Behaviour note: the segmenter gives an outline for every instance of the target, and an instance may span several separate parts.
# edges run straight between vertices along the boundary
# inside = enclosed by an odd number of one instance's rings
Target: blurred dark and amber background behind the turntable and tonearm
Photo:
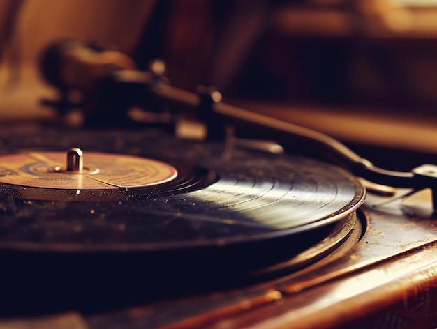
[[[2,0],[0,120],[47,121],[41,52],[116,45],[173,85],[325,132],[378,165],[437,163],[436,0]]]

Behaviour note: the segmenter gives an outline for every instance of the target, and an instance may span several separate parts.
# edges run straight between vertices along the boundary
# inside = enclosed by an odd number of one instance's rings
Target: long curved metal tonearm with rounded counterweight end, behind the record
[[[269,116],[221,102],[221,94],[202,86],[191,93],[171,86],[163,77],[163,66],[155,62],[149,72],[136,70],[135,63],[115,50],[91,47],[69,40],[49,47],[42,60],[43,75],[64,95],[59,102],[46,102],[64,112],[77,107],[68,101],[68,93],[80,91],[80,106],[105,116],[110,122],[124,120],[124,111],[147,102],[177,105],[194,112],[207,123],[209,135],[220,137],[222,123],[236,129],[256,132],[257,137],[273,139],[286,149],[308,153],[319,158],[334,159],[355,176],[394,188],[422,190],[431,188],[437,208],[437,166],[424,164],[410,172],[390,171],[375,167],[336,139]]]

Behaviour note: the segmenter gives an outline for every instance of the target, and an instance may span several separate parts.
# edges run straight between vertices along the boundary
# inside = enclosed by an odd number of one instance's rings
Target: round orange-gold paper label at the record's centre
[[[68,172],[66,153],[38,152],[0,157],[0,183],[32,188],[98,190],[141,188],[172,181],[177,169],[131,155],[84,153],[84,169]]]

